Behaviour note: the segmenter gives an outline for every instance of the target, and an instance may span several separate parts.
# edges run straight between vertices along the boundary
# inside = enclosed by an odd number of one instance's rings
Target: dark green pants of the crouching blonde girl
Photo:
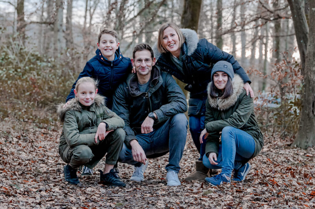
[[[72,168],[79,168],[85,165],[92,169],[100,162],[106,153],[105,162],[110,165],[115,165],[123,147],[124,139],[125,131],[122,128],[117,128],[110,132],[104,140],[101,140],[98,145],[67,146],[66,149],[59,152],[59,155],[61,159],[69,163]]]

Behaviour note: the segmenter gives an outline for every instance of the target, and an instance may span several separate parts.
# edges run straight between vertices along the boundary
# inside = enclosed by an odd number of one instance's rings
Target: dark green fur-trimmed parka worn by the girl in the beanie
[[[205,128],[209,133],[206,143],[206,155],[215,152],[218,155],[220,132],[226,126],[241,129],[255,140],[255,151],[251,158],[256,157],[264,145],[264,138],[258,126],[253,98],[246,95],[244,83],[238,74],[232,80],[233,94],[225,99],[212,98],[209,95],[211,82],[208,85],[206,101]]]

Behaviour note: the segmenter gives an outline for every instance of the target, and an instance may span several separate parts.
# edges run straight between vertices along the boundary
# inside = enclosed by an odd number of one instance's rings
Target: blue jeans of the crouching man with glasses
[[[187,137],[187,118],[184,113],[179,113],[169,118],[160,128],[153,129],[148,134],[135,135],[146,156],[167,153],[169,151],[169,163],[165,169],[179,172],[179,162],[183,156]],[[119,162],[128,163],[135,167],[141,166],[141,162],[134,161],[131,149],[123,144],[119,155]]]

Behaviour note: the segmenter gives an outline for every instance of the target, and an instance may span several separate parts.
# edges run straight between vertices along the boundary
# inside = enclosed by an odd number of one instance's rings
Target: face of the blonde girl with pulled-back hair
[[[84,106],[90,106],[93,104],[97,89],[95,89],[94,83],[81,83],[77,91],[74,89],[74,94],[78,97],[79,102]]]

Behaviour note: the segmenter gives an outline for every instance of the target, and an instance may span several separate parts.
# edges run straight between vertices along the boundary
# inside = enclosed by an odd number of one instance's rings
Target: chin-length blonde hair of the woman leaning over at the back
[[[164,47],[164,44],[163,44],[163,33],[164,33],[164,30],[168,27],[171,27],[176,31],[178,38],[179,38],[179,46],[178,46],[179,48],[185,42],[185,36],[183,35],[183,33],[181,32],[181,30],[179,29],[179,27],[176,24],[164,23],[163,25],[161,25],[160,29],[158,30],[158,35],[157,35],[157,50],[160,53],[168,52],[168,50]]]

